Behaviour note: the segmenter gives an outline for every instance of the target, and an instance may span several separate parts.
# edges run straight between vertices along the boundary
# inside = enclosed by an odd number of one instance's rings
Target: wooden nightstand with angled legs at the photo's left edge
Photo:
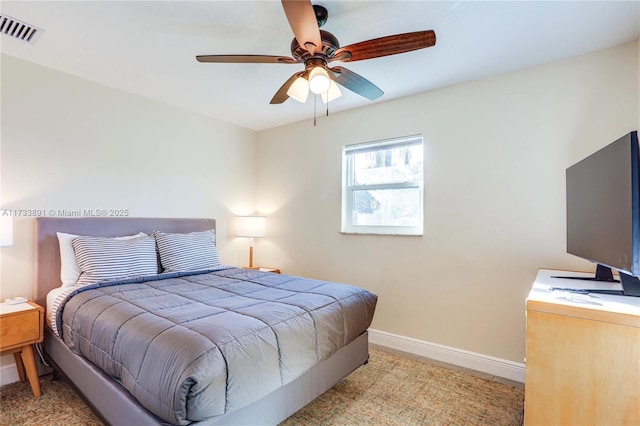
[[[33,344],[44,338],[44,308],[34,302],[0,303],[0,353],[13,353],[20,381],[29,379],[36,398],[42,395]],[[26,373],[26,375],[25,375]]]

